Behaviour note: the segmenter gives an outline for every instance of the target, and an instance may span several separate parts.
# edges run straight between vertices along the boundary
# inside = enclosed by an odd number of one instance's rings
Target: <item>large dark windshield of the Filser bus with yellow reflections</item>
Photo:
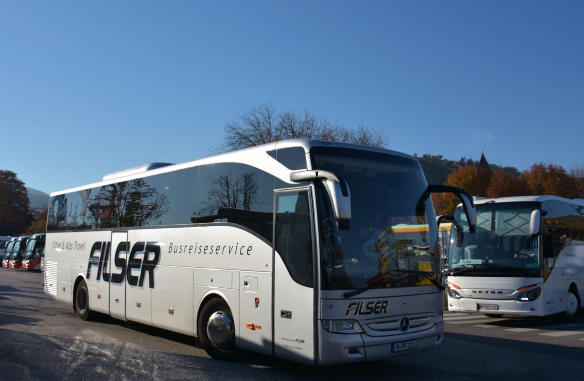
[[[349,185],[351,220],[339,230],[324,186],[316,182],[323,290],[431,285],[437,226],[417,160],[371,151],[317,147],[312,168]]]

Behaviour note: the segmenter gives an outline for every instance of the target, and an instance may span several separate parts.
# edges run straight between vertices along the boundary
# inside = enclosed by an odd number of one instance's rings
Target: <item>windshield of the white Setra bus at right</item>
[[[462,207],[454,213],[449,271],[453,276],[539,277],[539,238],[530,235],[536,203],[477,206],[477,232],[470,234]]]

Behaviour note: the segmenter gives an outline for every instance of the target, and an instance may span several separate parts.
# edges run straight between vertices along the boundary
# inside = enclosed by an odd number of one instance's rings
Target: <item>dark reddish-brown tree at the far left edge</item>
[[[0,171],[0,235],[18,235],[33,220],[25,184],[12,171]]]

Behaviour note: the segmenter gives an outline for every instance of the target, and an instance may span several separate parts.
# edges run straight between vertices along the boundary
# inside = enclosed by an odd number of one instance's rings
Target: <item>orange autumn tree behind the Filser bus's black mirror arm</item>
[[[491,174],[489,171],[474,165],[465,165],[451,172],[444,184],[463,188],[472,196],[485,196],[490,180]],[[437,214],[454,213],[454,209],[460,202],[450,193],[437,193],[432,195],[432,199]]]

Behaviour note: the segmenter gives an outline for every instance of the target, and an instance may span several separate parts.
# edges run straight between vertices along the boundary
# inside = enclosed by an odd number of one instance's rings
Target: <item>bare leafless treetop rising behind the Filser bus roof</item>
[[[225,124],[224,142],[215,152],[227,152],[258,146],[282,139],[322,139],[336,142],[385,147],[388,138],[362,122],[357,129],[349,129],[337,122],[317,117],[311,112],[277,112],[272,104],[252,107]]]

